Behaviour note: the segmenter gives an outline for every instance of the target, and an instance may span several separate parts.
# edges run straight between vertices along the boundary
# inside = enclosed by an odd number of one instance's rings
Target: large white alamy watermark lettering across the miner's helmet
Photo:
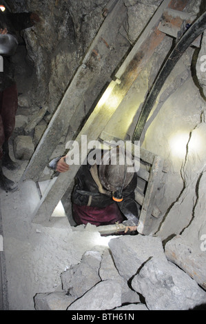
[[[79,141],[68,141],[65,146],[68,165],[126,165],[127,172],[137,172],[140,168],[139,141],[87,141],[87,135],[81,135]],[[103,154],[103,152],[104,154]],[[89,154],[87,152],[89,151]],[[121,154],[119,154],[121,151]]]

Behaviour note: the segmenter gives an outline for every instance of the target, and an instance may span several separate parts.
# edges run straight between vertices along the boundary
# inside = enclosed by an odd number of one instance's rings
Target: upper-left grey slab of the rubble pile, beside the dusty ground
[[[61,274],[63,290],[69,292],[71,296],[83,296],[85,292],[101,281],[99,277],[100,263],[101,254],[99,252],[85,252],[81,263]]]

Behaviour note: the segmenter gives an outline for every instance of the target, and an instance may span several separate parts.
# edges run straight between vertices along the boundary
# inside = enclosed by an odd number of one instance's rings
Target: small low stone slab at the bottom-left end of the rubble
[[[35,310],[67,310],[75,297],[68,296],[66,292],[48,292],[34,296]]]

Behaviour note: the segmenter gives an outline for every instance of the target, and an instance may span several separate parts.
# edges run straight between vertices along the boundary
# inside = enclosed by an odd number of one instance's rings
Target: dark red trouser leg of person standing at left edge
[[[10,88],[3,91],[1,103],[1,118],[3,120],[5,141],[2,145],[3,158],[2,165],[9,170],[15,170],[17,163],[10,159],[8,141],[15,127],[15,117],[18,107],[17,85],[14,84]]]

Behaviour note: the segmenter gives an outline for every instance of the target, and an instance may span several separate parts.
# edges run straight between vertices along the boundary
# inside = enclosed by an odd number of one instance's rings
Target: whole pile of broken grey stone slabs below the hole
[[[113,236],[112,236],[113,237]],[[206,292],[167,260],[157,236],[112,238],[61,274],[62,291],[34,296],[36,310],[192,310]]]

